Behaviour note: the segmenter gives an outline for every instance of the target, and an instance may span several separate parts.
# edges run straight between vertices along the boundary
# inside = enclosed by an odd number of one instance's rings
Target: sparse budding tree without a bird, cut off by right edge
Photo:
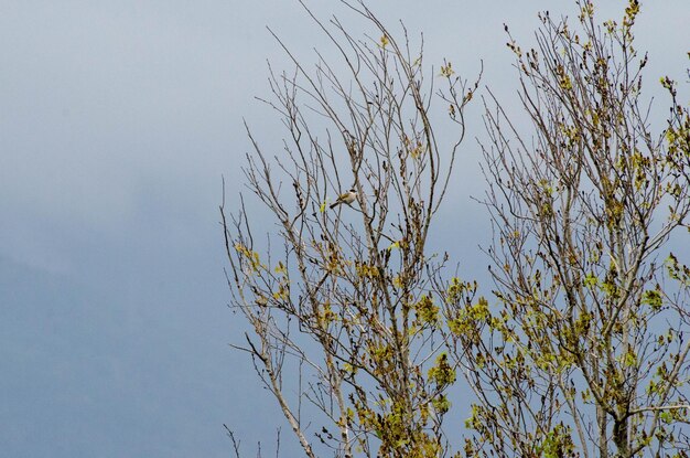
[[[477,400],[465,451],[687,457],[690,270],[668,242],[689,227],[689,113],[662,78],[671,115],[655,134],[636,0],[601,25],[576,4],[574,25],[540,15],[535,49],[508,34],[530,136],[486,102],[497,303],[463,283],[446,303]]]

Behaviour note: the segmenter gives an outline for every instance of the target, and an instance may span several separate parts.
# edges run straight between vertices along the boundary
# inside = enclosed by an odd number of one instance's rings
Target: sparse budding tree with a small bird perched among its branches
[[[434,93],[405,28],[397,39],[364,2],[345,4],[375,36],[312,15],[338,62],[317,52],[308,68],[283,45],[295,71],[271,71],[266,100],[285,126],[283,150],[265,151],[247,129],[248,187],[278,227],[270,246],[245,200],[234,216],[220,209],[233,306],[250,324],[241,349],[306,456],[314,437],[335,456],[443,456],[455,370],[439,332],[446,257],[427,239],[478,78],[467,84],[444,62]],[[450,145],[440,123],[453,126]],[[302,418],[304,401],[322,424]]]

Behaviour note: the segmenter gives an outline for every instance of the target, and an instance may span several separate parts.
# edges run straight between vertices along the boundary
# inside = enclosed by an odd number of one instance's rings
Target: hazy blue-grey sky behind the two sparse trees
[[[607,1],[602,19],[618,15]],[[649,4],[647,4],[649,3]],[[337,1],[311,1],[354,35]],[[529,43],[538,11],[571,1],[380,0],[391,30],[424,33],[443,57],[514,100],[503,23]],[[643,2],[648,84],[687,67],[686,0]],[[3,0],[0,3],[0,448],[11,457],[227,457],[230,426],[252,456],[289,428],[245,354],[227,308],[222,177],[238,203],[250,145],[279,119],[267,60],[290,68],[270,26],[305,63],[323,35],[293,0]],[[335,58],[335,56],[334,56]],[[662,105],[659,105],[660,107]],[[508,105],[508,108],[511,108]],[[517,110],[516,107],[513,106]],[[659,113],[662,113],[660,110]],[[478,109],[438,222],[444,249],[485,263]],[[270,226],[267,226],[270,228]],[[484,274],[477,274],[484,275]]]

